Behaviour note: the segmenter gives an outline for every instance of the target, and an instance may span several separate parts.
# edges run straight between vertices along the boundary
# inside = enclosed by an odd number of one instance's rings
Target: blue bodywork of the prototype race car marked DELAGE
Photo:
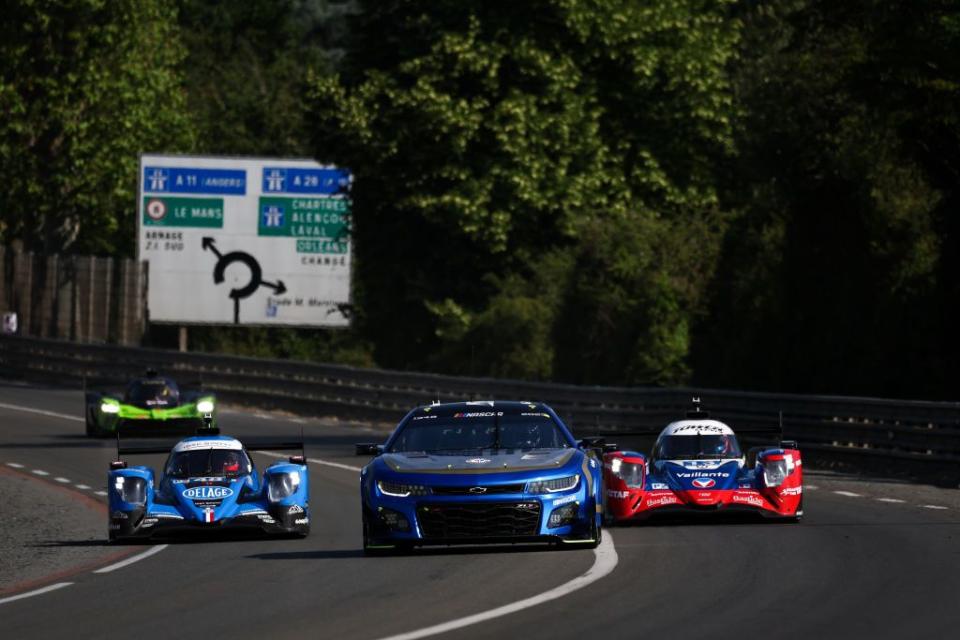
[[[205,446],[229,446],[246,453],[234,438],[202,436],[181,440],[171,455],[182,447],[202,452]],[[282,481],[282,476],[296,478],[295,489],[271,495],[271,478]],[[132,483],[132,489],[128,483]],[[292,480],[288,484],[294,485]],[[249,468],[235,475],[161,475],[159,480],[146,466],[111,469],[107,476],[109,537],[148,538],[175,531],[226,528],[306,535],[310,531],[309,484],[306,465],[288,462],[275,463],[262,475],[251,462]]]

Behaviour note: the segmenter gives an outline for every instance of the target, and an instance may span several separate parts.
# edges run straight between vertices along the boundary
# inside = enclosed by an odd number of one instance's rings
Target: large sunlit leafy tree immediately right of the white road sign
[[[314,148],[356,173],[378,362],[682,380],[724,225],[729,3],[361,4]]]

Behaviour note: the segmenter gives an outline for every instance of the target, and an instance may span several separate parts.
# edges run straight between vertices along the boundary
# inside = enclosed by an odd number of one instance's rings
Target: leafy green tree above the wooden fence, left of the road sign
[[[161,0],[5,4],[0,241],[133,253],[138,155],[192,144],[183,55]]]

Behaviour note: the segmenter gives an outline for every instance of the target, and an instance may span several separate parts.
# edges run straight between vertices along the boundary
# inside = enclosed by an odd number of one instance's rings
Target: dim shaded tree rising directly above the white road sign
[[[352,2],[179,0],[188,105],[204,153],[306,157],[308,71],[342,51]]]

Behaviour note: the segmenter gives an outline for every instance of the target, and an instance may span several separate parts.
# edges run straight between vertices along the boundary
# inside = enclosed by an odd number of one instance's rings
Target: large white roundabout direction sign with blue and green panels
[[[150,321],[349,324],[351,184],[312,160],[141,156]]]

